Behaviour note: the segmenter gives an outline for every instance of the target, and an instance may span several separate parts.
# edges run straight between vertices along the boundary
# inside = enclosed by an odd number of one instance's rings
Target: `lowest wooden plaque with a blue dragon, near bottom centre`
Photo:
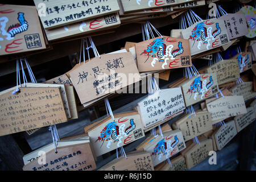
[[[153,137],[144,146],[144,151],[150,152],[154,166],[171,158],[185,148],[185,142],[180,130],[164,131],[161,135]]]

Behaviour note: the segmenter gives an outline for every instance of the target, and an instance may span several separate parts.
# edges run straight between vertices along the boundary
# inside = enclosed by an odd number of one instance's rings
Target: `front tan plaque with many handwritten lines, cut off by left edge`
[[[67,121],[59,88],[19,88],[0,95],[0,135]]]

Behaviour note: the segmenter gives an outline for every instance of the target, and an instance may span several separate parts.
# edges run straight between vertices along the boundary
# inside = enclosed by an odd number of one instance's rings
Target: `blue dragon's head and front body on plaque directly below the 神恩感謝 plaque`
[[[114,139],[114,142],[118,142],[119,140],[117,139],[119,135],[119,126],[117,125],[117,122],[113,121],[108,123],[104,127],[104,129],[101,131],[100,137],[96,140],[96,142],[99,141],[108,141],[110,140],[110,137]]]

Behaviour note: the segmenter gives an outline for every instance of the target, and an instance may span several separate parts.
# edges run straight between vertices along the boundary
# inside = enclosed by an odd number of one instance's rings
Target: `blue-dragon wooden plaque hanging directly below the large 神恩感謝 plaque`
[[[88,129],[96,156],[122,147],[144,137],[141,117],[138,112],[114,115]]]

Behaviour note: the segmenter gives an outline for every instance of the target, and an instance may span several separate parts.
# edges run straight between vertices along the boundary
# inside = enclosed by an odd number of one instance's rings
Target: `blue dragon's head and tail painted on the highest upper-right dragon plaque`
[[[212,32],[212,36],[216,38],[216,36],[219,35],[220,33],[221,33],[221,28],[218,25],[218,23],[216,23],[216,30]],[[193,28],[192,34],[189,36],[189,39],[193,41],[195,40],[199,41],[201,38],[201,40],[204,41],[204,44],[207,44],[208,43],[206,41],[207,37],[208,37],[207,28],[205,27],[205,23],[201,22],[196,24],[195,28]]]

